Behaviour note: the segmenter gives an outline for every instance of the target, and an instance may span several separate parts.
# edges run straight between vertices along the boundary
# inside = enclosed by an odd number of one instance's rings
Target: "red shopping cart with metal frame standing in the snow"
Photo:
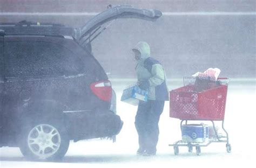
[[[227,87],[230,80],[218,78],[215,81],[207,76],[184,77],[183,80],[183,87],[170,92],[170,117],[181,120],[183,135],[183,140],[169,145],[173,146],[174,155],[178,155],[179,146],[187,146],[188,152],[192,152],[193,147],[196,147],[196,153],[200,155],[200,147],[213,142],[225,142],[227,152],[231,152],[228,133],[224,129]],[[212,127],[187,124],[187,121],[211,121]],[[222,121],[225,136],[218,134],[214,121]]]

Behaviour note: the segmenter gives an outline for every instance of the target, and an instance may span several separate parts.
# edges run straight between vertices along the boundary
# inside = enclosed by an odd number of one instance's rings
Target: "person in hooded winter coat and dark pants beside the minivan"
[[[133,49],[137,61],[138,86],[148,91],[148,101],[140,101],[135,126],[139,137],[138,155],[156,155],[159,128],[158,122],[163,113],[164,103],[169,100],[166,75],[163,65],[150,57],[150,46],[139,42]]]

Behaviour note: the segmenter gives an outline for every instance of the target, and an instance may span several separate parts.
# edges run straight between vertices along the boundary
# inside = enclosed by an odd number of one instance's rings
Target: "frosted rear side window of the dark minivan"
[[[76,75],[81,61],[67,48],[43,41],[6,41],[6,77]]]

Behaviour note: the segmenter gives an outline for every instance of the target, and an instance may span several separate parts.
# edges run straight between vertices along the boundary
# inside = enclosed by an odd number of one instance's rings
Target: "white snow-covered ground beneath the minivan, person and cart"
[[[256,79],[232,79],[228,88],[225,128],[230,136],[232,152],[227,153],[225,143],[213,143],[201,148],[201,155],[188,153],[181,147],[178,156],[169,144],[181,138],[180,121],[169,117],[169,102],[159,122],[157,155],[136,156],[138,149],[134,117],[137,107],[120,101],[122,90],[135,80],[113,79],[117,92],[117,111],[124,127],[117,142],[91,139],[71,143],[66,156],[59,163],[29,162],[18,148],[0,148],[0,167],[254,167]],[[181,80],[170,80],[169,89],[182,86]],[[205,122],[206,123],[206,122]],[[218,122],[217,122],[218,123]],[[218,123],[219,127],[221,124]],[[254,165],[254,166],[253,166]]]

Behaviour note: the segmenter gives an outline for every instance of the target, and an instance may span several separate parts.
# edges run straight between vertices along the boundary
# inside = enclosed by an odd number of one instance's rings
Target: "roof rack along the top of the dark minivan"
[[[28,22],[0,23],[0,29],[5,35],[64,35],[72,36],[73,28],[62,24]]]

